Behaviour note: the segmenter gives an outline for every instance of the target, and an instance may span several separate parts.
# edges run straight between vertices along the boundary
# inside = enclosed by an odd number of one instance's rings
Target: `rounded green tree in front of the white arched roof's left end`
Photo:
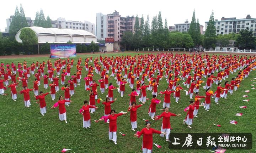
[[[23,46],[27,48],[25,53],[28,54],[33,52],[33,46],[38,44],[36,33],[30,28],[21,29],[20,39],[22,40]]]

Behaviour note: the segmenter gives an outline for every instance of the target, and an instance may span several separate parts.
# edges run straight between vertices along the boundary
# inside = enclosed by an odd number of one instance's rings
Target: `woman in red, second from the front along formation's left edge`
[[[126,113],[116,114],[116,111],[114,109],[112,109],[111,110],[111,114],[108,115],[108,119],[110,120],[109,129],[108,129],[108,138],[109,138],[109,140],[112,140],[115,145],[117,144],[117,135],[116,135],[116,131],[117,131],[117,118],[119,116],[123,115],[123,114],[126,114]],[[104,119],[99,119],[99,121],[100,120],[104,120]]]

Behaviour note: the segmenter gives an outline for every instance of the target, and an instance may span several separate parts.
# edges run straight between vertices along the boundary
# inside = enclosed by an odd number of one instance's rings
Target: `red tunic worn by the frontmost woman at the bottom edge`
[[[153,128],[147,129],[143,128],[139,132],[139,136],[143,135],[143,145],[142,148],[152,150],[153,148],[153,134],[161,134],[161,131],[155,130]]]

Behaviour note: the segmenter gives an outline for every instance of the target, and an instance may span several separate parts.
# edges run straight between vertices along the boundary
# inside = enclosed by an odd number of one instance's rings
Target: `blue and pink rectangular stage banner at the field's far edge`
[[[52,58],[66,58],[76,56],[75,44],[50,45],[50,54]]]

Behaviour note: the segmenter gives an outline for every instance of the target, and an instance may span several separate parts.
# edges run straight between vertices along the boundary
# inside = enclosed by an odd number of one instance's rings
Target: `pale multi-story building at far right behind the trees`
[[[208,22],[205,22],[205,30]],[[220,21],[215,20],[216,34],[239,33],[241,30],[249,29],[256,36],[256,18],[247,15],[246,18],[236,19],[222,17]]]

